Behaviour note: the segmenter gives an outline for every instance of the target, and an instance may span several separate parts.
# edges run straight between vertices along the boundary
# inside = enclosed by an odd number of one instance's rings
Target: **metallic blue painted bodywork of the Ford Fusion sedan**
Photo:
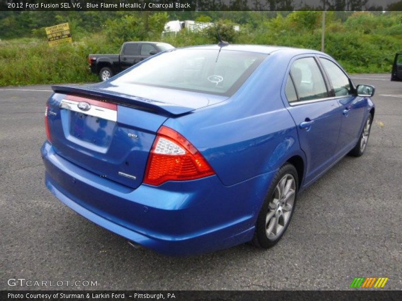
[[[269,53],[229,98],[116,87],[111,80],[55,87],[48,102],[55,113],[49,114],[53,143],[46,141],[41,149],[49,190],[94,223],[165,254],[208,252],[251,240],[277,170],[298,157],[304,165],[299,190],[311,185],[353,148],[374,104],[369,98],[349,96],[289,105],[284,87],[291,62],[318,55],[333,60],[323,53],[263,46],[227,46],[222,51]],[[117,122],[102,120],[93,133],[77,136],[69,127],[77,116],[58,108],[68,93],[117,101]],[[162,124],[186,137],[216,175],[159,187],[142,184]],[[91,143],[92,137],[96,141]]]

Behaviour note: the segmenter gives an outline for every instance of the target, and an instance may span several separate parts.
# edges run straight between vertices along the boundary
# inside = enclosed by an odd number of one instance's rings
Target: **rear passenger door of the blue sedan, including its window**
[[[307,158],[305,185],[333,163],[341,115],[337,99],[329,93],[315,56],[297,58],[291,63],[285,95]]]

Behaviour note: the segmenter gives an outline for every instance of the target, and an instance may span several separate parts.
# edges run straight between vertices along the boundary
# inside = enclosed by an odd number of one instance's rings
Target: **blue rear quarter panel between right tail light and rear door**
[[[164,123],[205,156],[225,186],[304,156],[280,96],[287,62],[287,56],[271,54],[228,100]]]

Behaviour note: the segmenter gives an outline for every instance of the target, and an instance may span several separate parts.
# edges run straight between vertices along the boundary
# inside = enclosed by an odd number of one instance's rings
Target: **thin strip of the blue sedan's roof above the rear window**
[[[196,48],[196,49],[205,49],[205,50],[219,50],[218,45],[205,45],[205,46],[190,46],[184,47],[184,49]],[[323,52],[312,50],[312,49],[303,49],[303,48],[293,48],[293,47],[284,47],[284,46],[270,46],[270,45],[247,45],[247,44],[230,44],[222,47],[222,50],[232,50],[232,51],[244,51],[244,52],[256,52],[263,54],[270,54],[273,52],[282,52],[288,53],[292,55],[304,54],[304,53],[315,53],[326,55]]]

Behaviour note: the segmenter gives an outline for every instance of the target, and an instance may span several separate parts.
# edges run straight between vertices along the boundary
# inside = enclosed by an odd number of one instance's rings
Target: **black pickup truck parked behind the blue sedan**
[[[105,81],[154,54],[173,48],[167,43],[126,42],[120,54],[90,54],[89,68],[92,73],[99,74],[100,80]]]

